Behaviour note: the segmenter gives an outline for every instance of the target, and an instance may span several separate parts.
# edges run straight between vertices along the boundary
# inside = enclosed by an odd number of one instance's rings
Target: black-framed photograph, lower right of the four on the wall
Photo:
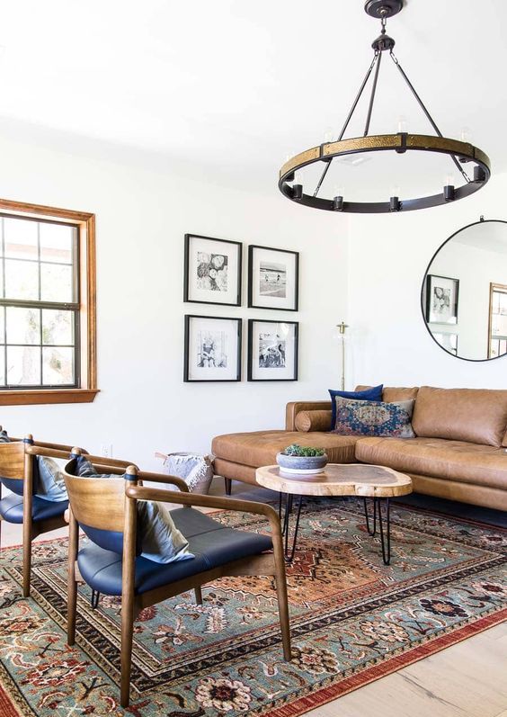
[[[248,381],[298,381],[297,321],[248,320]]]

